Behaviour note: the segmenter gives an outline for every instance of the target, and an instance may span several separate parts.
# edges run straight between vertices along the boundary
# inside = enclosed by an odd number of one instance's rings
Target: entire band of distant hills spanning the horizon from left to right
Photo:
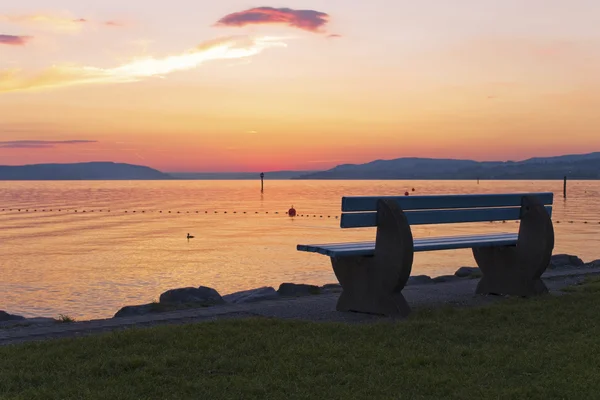
[[[67,164],[0,165],[0,180],[244,180],[259,172],[171,172],[135,164],[94,161]],[[297,180],[544,180],[600,179],[600,152],[531,157],[522,161],[474,161],[452,158],[403,157],[363,164],[340,164],[325,171],[270,171],[265,179]]]

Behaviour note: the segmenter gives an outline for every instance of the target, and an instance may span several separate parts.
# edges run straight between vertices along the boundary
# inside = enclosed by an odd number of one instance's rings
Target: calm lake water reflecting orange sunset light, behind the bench
[[[104,318],[176,287],[227,294],[336,282],[327,257],[298,252],[296,244],[373,240],[374,229],[339,228],[341,196],[398,195],[413,187],[415,194],[553,191],[553,219],[560,221],[555,253],[600,258],[600,182],[570,182],[566,201],[562,181],[266,181],[263,195],[259,185],[0,182],[0,309]],[[311,216],[287,217],[291,205]],[[456,224],[416,227],[414,235],[517,230],[516,223]],[[188,232],[195,235],[189,242]],[[469,250],[417,253],[413,274],[448,274],[462,265],[475,265]]]

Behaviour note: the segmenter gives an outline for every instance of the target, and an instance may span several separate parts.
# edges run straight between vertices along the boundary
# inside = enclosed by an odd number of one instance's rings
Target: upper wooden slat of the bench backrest
[[[517,207],[523,196],[536,196],[543,205],[553,202],[552,192],[510,193],[510,194],[461,194],[439,196],[349,196],[342,197],[342,211],[376,211],[377,200],[393,199],[404,211],[451,209]]]

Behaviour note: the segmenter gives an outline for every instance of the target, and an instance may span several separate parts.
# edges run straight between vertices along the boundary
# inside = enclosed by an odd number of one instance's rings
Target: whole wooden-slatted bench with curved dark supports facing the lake
[[[342,286],[338,311],[406,316],[401,291],[416,251],[472,249],[482,272],[478,294],[533,296],[554,249],[552,193],[343,197],[341,228],[377,227],[375,241],[298,245],[331,257]],[[518,233],[414,239],[413,225],[519,221]]]

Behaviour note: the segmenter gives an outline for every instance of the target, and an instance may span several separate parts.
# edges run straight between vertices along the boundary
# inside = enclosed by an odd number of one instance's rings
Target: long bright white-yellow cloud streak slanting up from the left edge
[[[194,69],[211,60],[251,57],[268,48],[285,46],[281,38],[232,36],[205,42],[182,54],[141,58],[114,68],[57,66],[34,75],[18,69],[0,70],[0,93],[93,83],[137,82]]]

